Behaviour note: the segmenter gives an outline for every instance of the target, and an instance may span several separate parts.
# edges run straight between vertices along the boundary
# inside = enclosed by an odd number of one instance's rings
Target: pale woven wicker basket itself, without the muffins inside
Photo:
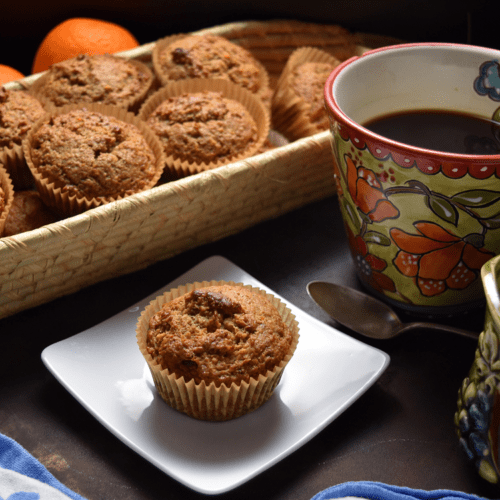
[[[317,46],[343,60],[359,52],[363,42],[338,26],[296,21],[231,23],[202,32],[223,35],[251,50],[272,81],[299,46]],[[150,64],[153,46],[123,54]],[[38,76],[28,76],[21,84],[29,86]],[[331,196],[331,165],[329,132],[322,132],[0,238],[0,318]]]

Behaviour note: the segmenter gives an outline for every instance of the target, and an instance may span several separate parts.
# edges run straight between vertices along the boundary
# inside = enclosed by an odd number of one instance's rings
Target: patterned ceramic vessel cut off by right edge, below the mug
[[[455,428],[462,449],[481,477],[497,484],[500,438],[500,256],[481,270],[486,292],[484,330],[469,376],[458,391]]]

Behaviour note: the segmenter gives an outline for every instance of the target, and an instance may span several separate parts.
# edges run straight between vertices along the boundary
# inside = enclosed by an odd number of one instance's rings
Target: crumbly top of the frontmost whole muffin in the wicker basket
[[[142,191],[156,172],[155,155],[136,126],[86,109],[43,124],[31,155],[42,177],[90,199]]]

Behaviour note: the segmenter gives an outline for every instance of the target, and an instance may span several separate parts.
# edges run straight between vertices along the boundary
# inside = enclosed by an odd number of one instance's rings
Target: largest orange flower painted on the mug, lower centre
[[[427,297],[448,288],[467,288],[483,264],[495,255],[479,248],[482,235],[459,238],[433,222],[414,225],[419,234],[391,229],[391,237],[399,248],[393,262],[400,273],[415,278],[420,292]]]

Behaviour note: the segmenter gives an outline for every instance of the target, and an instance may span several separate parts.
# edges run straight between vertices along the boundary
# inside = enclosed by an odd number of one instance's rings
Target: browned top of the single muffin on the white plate
[[[146,341],[151,357],[177,378],[230,387],[279,365],[292,333],[266,297],[220,285],[166,303],[150,319]]]

